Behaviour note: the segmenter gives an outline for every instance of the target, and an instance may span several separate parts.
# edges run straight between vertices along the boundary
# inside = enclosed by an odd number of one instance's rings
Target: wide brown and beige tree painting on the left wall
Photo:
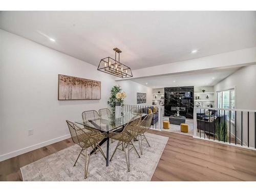
[[[100,99],[100,81],[58,75],[58,100]]]

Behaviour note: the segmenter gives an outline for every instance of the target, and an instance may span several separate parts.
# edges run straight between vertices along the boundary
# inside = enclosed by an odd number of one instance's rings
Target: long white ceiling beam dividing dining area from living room
[[[246,66],[256,63],[256,47],[210,55],[197,59],[172,62],[160,66],[137,69],[132,78],[155,76],[163,74],[177,74],[204,69],[225,69],[230,67]]]

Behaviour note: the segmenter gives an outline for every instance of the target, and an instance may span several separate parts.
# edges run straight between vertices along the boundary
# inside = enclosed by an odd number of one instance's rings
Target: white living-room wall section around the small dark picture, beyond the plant
[[[131,80],[118,81],[117,84],[121,86],[126,93],[126,104],[137,103],[137,93],[146,93],[146,104],[152,104],[152,89]]]

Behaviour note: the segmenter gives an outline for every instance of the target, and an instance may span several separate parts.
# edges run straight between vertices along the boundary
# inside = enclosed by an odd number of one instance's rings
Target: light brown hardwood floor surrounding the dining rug
[[[256,151],[150,130],[169,137],[152,181],[256,181]],[[0,162],[1,181],[21,181],[19,167],[73,145],[66,139]]]

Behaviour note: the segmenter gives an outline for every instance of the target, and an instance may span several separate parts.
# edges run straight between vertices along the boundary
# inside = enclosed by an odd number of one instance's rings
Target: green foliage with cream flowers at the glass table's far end
[[[110,97],[107,103],[110,106],[112,113],[115,113],[116,102],[120,102],[120,106],[123,106],[123,99],[125,97],[126,95],[122,92],[122,88],[120,86],[114,86],[111,88]]]

